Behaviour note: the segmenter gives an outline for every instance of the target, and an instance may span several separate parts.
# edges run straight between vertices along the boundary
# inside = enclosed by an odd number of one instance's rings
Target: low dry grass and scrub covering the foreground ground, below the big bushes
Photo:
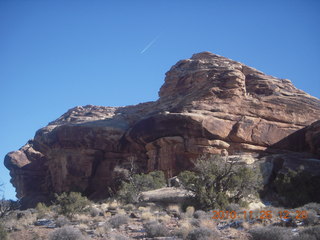
[[[39,205],[40,210],[45,205]],[[38,206],[38,207],[39,207]],[[45,207],[45,219],[39,219],[34,209],[14,211],[5,217],[0,234],[8,234],[12,240],[35,239],[146,239],[156,237],[176,237],[179,239],[239,239],[239,240],[314,240],[319,239],[320,204],[310,203],[291,209],[288,219],[279,217],[283,208],[264,207],[248,211],[237,204],[230,204],[225,211],[236,211],[237,219],[215,218],[212,211],[186,208],[179,204],[122,204],[109,200],[92,204],[88,211],[80,211],[72,218],[59,215],[59,205]],[[90,210],[91,209],[91,210]],[[94,209],[94,214],[92,214]],[[38,209],[39,210],[39,209]],[[296,218],[295,211],[308,211],[312,218]],[[270,211],[270,219],[260,219],[261,211]],[[98,213],[99,214],[96,214]],[[242,214],[241,214],[242,212]],[[248,213],[248,212],[247,212]],[[284,215],[284,214],[283,214]],[[44,225],[43,225],[44,224]],[[295,231],[292,231],[295,229]],[[4,237],[0,239],[5,239]]]

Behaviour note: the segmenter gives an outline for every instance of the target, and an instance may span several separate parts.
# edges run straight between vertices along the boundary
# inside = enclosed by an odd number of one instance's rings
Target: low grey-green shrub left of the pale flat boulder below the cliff
[[[139,201],[140,192],[164,186],[166,186],[166,179],[162,171],[133,174],[128,181],[122,182],[117,197],[126,203],[136,203]]]

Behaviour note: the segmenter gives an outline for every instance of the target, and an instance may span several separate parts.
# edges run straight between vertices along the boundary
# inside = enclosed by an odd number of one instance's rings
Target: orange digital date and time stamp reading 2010
[[[296,211],[289,211],[289,210],[283,210],[278,211],[276,214],[274,214],[272,211],[268,210],[261,210],[261,211],[218,211],[214,210],[212,219],[272,219],[274,217],[279,217],[281,219],[306,219],[308,218],[308,212],[305,210],[296,210]],[[291,216],[290,216],[291,215]]]

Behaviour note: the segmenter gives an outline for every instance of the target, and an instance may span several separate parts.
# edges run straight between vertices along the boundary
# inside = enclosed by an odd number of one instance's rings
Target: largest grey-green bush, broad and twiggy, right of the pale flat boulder
[[[184,171],[178,178],[194,192],[203,209],[225,209],[239,203],[262,186],[259,170],[239,165],[218,155],[203,156],[195,163],[194,172]]]

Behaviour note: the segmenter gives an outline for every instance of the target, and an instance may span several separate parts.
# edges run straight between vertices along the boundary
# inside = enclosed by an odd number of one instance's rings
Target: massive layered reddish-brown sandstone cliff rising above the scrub
[[[136,106],[75,107],[38,130],[5,157],[17,196],[39,201],[81,191],[98,198],[115,166],[132,160],[141,171],[170,177],[204,153],[289,150],[320,158],[320,124],[312,124],[320,119],[320,100],[289,80],[203,52],[174,65],[159,96]]]

